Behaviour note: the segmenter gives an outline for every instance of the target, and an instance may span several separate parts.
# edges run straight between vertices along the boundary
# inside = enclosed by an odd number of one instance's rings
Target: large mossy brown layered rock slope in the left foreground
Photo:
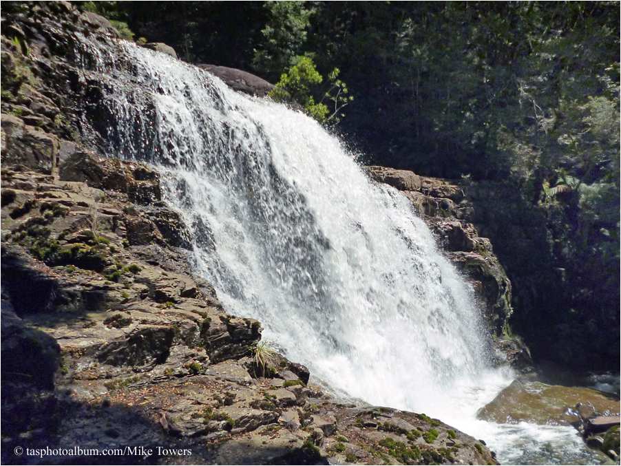
[[[167,445],[208,464],[494,462],[426,416],[339,405],[280,354],[257,363],[260,323],[224,312],[152,220],[165,206],[135,195],[147,181],[158,192],[157,174],[74,149],[59,176],[3,169],[3,291],[17,304],[6,317],[3,303],[3,390],[14,377],[5,368],[37,389],[28,423],[24,397],[3,395],[3,451],[50,445],[54,432],[53,445]],[[147,460],[166,458],[184,455]]]

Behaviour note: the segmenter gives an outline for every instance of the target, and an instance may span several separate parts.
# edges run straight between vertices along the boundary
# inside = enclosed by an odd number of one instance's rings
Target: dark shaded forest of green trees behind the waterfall
[[[514,303],[547,316],[516,328],[587,340],[550,358],[618,370],[618,2],[76,3],[185,61],[280,83],[313,116],[327,103],[317,119],[364,162],[510,184],[543,219],[531,286],[558,287]]]

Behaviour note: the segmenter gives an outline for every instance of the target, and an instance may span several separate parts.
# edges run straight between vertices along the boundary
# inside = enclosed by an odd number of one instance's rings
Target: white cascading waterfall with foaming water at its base
[[[196,273],[271,346],[335,395],[425,412],[501,463],[601,463],[572,427],[476,419],[512,373],[492,366],[471,290],[410,202],[370,182],[338,138],[165,54],[83,47],[105,83],[86,136],[158,167]]]

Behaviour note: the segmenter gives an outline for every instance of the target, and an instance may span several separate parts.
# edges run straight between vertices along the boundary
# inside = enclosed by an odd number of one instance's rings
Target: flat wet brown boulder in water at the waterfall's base
[[[513,381],[477,417],[496,423],[528,422],[551,425],[581,425],[578,403],[591,403],[594,412],[618,413],[619,399],[592,388],[563,387],[540,382]],[[580,409],[578,408],[578,411]]]

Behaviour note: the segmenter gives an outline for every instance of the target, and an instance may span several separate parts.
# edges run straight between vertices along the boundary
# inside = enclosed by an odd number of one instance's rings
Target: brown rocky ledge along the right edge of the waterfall
[[[492,249],[472,224],[472,202],[455,182],[426,178],[407,170],[366,167],[378,182],[399,189],[430,226],[451,262],[472,284],[481,310],[493,333],[501,361],[524,374],[533,369],[527,349],[514,339],[509,327],[512,287]]]

